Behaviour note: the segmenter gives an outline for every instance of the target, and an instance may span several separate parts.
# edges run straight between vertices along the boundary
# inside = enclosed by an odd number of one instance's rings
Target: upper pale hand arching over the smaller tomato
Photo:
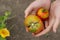
[[[40,7],[43,7],[47,10],[50,8],[50,0],[36,0],[32,2],[25,10],[25,17],[32,13],[36,12]]]

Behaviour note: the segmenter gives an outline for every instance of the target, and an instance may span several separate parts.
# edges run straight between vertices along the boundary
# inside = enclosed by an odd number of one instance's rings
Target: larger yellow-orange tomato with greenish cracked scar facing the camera
[[[25,18],[25,26],[32,33],[39,33],[44,29],[43,21],[36,15],[29,15]]]

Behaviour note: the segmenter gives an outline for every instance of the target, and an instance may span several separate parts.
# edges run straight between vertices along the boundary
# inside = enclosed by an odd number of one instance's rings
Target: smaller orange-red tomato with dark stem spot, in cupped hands
[[[49,17],[49,12],[48,12],[48,10],[46,10],[44,8],[40,8],[37,11],[37,16],[39,16],[41,19],[45,20]]]

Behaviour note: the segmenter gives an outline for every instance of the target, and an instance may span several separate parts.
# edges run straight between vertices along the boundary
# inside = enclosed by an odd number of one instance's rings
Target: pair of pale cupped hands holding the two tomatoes
[[[47,10],[49,10],[49,8],[50,8],[49,19],[45,21],[46,29],[38,34],[32,33],[33,36],[35,36],[35,37],[42,36],[42,35],[48,33],[51,30],[51,28],[53,28],[53,32],[56,33],[56,29],[60,22],[59,21],[60,20],[60,11],[59,11],[60,3],[59,2],[60,2],[59,0],[54,1],[50,7],[51,0],[36,0],[27,7],[27,9],[25,10],[25,18],[30,13],[32,13],[32,10],[34,11],[34,13],[36,13],[36,10],[40,7],[44,7]],[[26,28],[26,31],[29,32],[27,30],[27,28]]]

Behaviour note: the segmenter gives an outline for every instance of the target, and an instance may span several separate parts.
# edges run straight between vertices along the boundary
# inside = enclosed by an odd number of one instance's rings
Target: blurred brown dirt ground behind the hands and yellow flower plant
[[[31,33],[25,31],[24,26],[24,10],[34,0],[0,0],[0,14],[5,10],[10,10],[13,17],[7,20],[7,28],[11,32],[11,36],[7,40],[60,40],[60,28],[57,33],[51,30],[41,37],[33,37]]]

